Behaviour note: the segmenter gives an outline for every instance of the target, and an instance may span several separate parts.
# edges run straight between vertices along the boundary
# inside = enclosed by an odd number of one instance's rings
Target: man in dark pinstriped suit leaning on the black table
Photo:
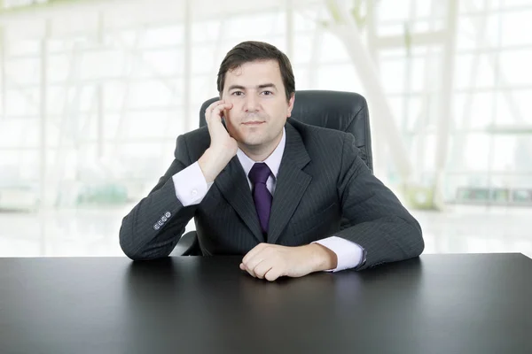
[[[418,222],[358,157],[353,135],[288,119],[284,53],[242,42],[217,85],[207,127],[177,138],[167,173],[122,220],[129,258],[167,257],[192,218],[203,255],[243,255],[240,269],[268,281],[421,254]]]

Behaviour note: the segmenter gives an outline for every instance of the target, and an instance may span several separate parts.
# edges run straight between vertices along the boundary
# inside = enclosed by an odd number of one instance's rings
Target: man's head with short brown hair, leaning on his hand
[[[274,150],[295,93],[286,55],[268,43],[242,42],[223,58],[217,84],[220,98],[232,104],[224,116],[240,148],[253,153]]]

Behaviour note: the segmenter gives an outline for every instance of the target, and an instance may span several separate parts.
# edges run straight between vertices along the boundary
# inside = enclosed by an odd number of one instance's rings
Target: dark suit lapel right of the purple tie
[[[300,203],[301,197],[312,180],[309,174],[301,171],[310,161],[309,153],[301,140],[301,135],[290,123],[287,123],[285,127],[286,145],[281,165],[279,166],[275,193],[271,204],[270,225],[268,227],[269,243],[278,241],[281,232],[292,218],[295,208]],[[253,198],[251,200],[253,204]]]

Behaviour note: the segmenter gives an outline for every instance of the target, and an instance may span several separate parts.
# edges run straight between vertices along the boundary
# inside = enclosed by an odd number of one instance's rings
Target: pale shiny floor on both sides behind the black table
[[[118,231],[131,207],[1,212],[0,257],[123,256]],[[425,253],[520,252],[532,258],[531,208],[450,206],[412,214],[423,228]]]

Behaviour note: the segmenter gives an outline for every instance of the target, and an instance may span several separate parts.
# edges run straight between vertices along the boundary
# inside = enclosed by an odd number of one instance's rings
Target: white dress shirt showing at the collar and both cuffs
[[[274,197],[275,184],[279,173],[279,166],[281,165],[281,159],[285,152],[285,145],[286,131],[283,129],[283,137],[281,138],[278,147],[273,150],[271,155],[264,161],[254,161],[249,158],[244,151],[240,149],[237,151],[237,157],[239,158],[240,165],[242,165],[246,176],[249,174],[249,171],[255,162],[264,162],[270,167],[271,174],[268,181],[266,181],[266,188],[268,188],[271,195]],[[174,181],[174,186],[176,188],[177,199],[179,199],[183,206],[200,204],[203,198],[207,195],[208,189],[213,185],[212,182],[207,183],[197,161],[181,172],[174,174],[172,180]],[[247,181],[249,183],[249,189],[252,189],[252,183],[249,181],[249,177],[247,177]],[[330,236],[318,240],[317,243],[332,250],[336,254],[338,264],[336,268],[330,270],[332,272],[354,268],[362,261],[362,247],[355,242],[348,241],[338,236]]]

